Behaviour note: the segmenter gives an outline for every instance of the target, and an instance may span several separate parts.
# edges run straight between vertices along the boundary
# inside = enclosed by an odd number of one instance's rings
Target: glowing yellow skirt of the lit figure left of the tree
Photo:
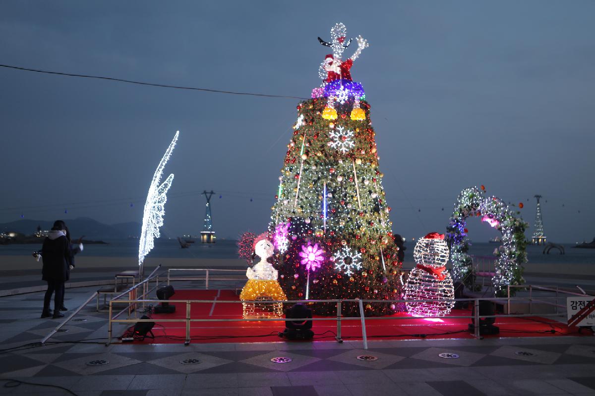
[[[268,301],[287,300],[277,280],[249,279],[240,293],[244,319],[270,319],[283,317],[283,303]]]

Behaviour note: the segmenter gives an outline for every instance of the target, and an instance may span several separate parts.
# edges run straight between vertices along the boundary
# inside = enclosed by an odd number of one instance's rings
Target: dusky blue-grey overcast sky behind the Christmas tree
[[[369,42],[352,76],[371,104],[394,232],[444,232],[459,191],[483,184],[524,202],[531,226],[543,195],[546,236],[576,242],[595,236],[593,15],[578,0],[5,0],[0,63],[309,97],[328,52],[317,36],[342,21]],[[267,226],[298,100],[6,68],[0,87],[0,222],[142,221],[179,130],[165,235],[201,230],[203,189],[218,192],[220,237]],[[497,235],[477,219],[469,230]]]

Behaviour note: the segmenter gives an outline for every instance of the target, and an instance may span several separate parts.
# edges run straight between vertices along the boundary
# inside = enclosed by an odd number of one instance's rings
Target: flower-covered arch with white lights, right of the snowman
[[[446,227],[446,239],[450,248],[453,278],[467,287],[473,282],[472,260],[466,239],[466,218],[480,217],[490,226],[502,232],[502,245],[494,251],[496,271],[492,278],[494,294],[506,294],[506,286],[525,283],[522,264],[527,262],[527,239],[525,229],[528,223],[522,220],[520,212],[513,211],[502,199],[488,197],[484,186],[466,188],[456,200],[450,224]]]

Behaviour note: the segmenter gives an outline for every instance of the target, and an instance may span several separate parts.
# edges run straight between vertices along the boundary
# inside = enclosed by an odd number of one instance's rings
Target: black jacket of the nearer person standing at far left
[[[42,246],[42,280],[65,282],[70,278],[71,260],[73,257],[70,242],[64,233],[51,230]]]

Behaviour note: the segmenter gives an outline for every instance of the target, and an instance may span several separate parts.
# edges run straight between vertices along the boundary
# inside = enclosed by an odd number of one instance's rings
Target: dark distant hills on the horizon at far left
[[[64,220],[73,238],[84,235],[84,239],[124,239],[129,236],[140,235],[139,223],[103,224],[88,217],[79,217]],[[0,223],[1,232],[18,232],[32,235],[39,225],[42,230],[49,230],[54,221],[46,220],[17,220],[10,223]]]

